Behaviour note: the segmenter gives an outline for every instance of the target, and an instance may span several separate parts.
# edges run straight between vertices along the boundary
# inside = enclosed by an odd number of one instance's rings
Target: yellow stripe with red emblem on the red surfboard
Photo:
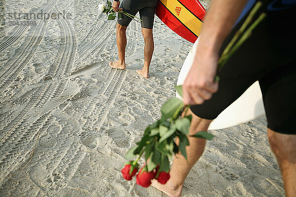
[[[160,0],[162,4],[171,11],[171,13],[178,18],[191,32],[199,36],[202,22],[194,16],[185,6],[178,0]],[[181,10],[180,10],[181,7]],[[179,15],[176,11],[179,12]]]

